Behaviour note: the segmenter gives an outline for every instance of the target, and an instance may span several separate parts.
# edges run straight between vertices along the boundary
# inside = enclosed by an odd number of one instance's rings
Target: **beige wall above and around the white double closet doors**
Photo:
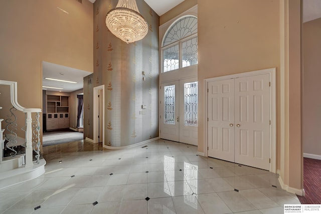
[[[277,112],[279,111],[279,3],[203,0],[198,2],[198,14],[201,120],[198,151],[203,152],[204,79],[276,67]],[[277,126],[278,124],[279,118]],[[278,135],[277,144],[279,143]]]

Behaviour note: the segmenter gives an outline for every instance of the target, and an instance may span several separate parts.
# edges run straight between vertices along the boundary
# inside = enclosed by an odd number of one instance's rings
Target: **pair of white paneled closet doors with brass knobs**
[[[208,156],[269,170],[269,74],[208,83]]]

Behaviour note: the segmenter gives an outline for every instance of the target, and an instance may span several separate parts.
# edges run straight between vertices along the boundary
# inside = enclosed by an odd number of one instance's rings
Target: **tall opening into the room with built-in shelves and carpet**
[[[90,74],[42,61],[43,146],[83,140],[79,96],[83,96],[83,78]]]

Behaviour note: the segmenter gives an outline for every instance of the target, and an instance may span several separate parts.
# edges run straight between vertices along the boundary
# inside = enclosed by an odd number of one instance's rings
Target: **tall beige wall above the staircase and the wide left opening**
[[[89,1],[0,1],[0,29],[0,79],[18,82],[18,101],[26,108],[42,108],[41,61],[93,71]],[[0,115],[7,115],[2,105]]]

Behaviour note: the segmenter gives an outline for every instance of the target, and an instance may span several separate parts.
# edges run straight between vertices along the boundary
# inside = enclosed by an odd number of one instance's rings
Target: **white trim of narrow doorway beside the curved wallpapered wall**
[[[97,86],[97,87],[94,87],[94,100],[93,100],[93,103],[94,103],[94,106],[93,106],[93,135],[94,135],[94,139],[93,139],[93,142],[94,143],[98,143],[98,135],[97,133],[99,132],[98,130],[98,121],[97,121],[97,117],[95,117],[95,115],[98,114],[98,107],[99,107],[99,100],[97,99],[98,97],[98,91],[99,90],[102,90],[102,119],[103,119],[103,122],[102,122],[102,144],[104,145],[104,141],[105,141],[105,85],[101,85],[101,86]]]

